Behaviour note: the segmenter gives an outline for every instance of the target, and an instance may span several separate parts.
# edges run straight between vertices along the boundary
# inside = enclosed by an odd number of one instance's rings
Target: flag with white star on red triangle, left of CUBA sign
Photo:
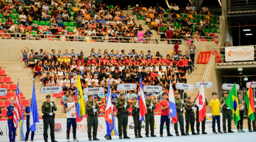
[[[107,126],[107,136],[111,136],[111,132],[114,129],[114,118],[113,118],[113,110],[111,103],[111,95],[110,95],[110,85],[108,86],[108,95],[106,102],[106,110],[105,110],[105,121]]]

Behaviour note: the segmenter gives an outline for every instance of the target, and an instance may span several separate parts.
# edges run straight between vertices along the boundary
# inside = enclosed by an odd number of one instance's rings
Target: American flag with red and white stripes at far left
[[[22,110],[22,103],[20,99],[20,92],[19,92],[19,79],[17,83],[16,89],[16,99],[14,102],[14,127],[18,128],[18,123],[24,118],[23,110]]]

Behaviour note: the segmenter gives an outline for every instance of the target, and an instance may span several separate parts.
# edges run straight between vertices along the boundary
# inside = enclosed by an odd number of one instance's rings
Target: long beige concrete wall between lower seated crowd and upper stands
[[[135,49],[138,54],[141,50],[144,51],[144,54],[147,54],[147,50],[151,50],[151,54],[155,55],[157,51],[160,52],[164,57],[169,53],[170,50],[174,50],[174,44],[140,44],[140,43],[104,43],[104,42],[68,42],[68,41],[44,41],[44,40],[6,40],[0,39],[1,47],[0,47],[0,61],[1,62],[10,62],[18,60],[22,53],[20,49],[24,46],[27,46],[30,50],[34,49],[35,52],[39,52],[39,49],[43,49],[44,51],[50,51],[52,49],[56,50],[56,54],[58,50],[61,50],[63,54],[65,49],[68,49],[70,53],[72,49],[75,50],[75,53],[79,53],[81,50],[84,53],[84,56],[89,55],[91,48],[95,48],[97,52],[100,49],[103,53],[105,49],[108,50],[108,53],[112,49],[119,50],[121,54],[121,50],[125,50],[125,54],[128,54],[130,49]],[[210,51],[216,45],[214,42],[195,42],[197,52],[200,51]],[[180,45],[180,50],[185,51],[188,50],[188,47],[185,44]],[[195,58],[197,60],[197,57]]]

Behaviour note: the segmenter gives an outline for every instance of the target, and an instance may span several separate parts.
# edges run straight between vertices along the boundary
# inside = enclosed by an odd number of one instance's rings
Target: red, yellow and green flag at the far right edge
[[[255,107],[254,107],[254,100],[252,95],[252,83],[248,89],[247,94],[245,95],[244,102],[247,104],[248,117],[251,118],[252,121],[255,121],[254,114],[253,114],[255,112]]]

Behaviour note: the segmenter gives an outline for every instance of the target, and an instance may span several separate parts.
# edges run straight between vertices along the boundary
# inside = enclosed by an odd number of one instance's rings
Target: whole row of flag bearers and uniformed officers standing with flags
[[[99,109],[99,104],[97,102],[94,102],[94,96],[89,95],[88,99],[89,101],[84,104],[83,100],[83,91],[82,86],[80,83],[80,77],[78,77],[76,87],[76,93],[75,97],[72,98],[71,95],[68,95],[68,102],[65,104],[65,111],[67,112],[67,141],[69,141],[69,130],[73,128],[73,141],[78,141],[76,139],[76,122],[80,122],[83,119],[83,116],[85,115],[86,111],[88,114],[87,117],[87,125],[88,125],[88,138],[89,141],[92,140],[99,140],[97,138],[97,127],[98,127],[98,114],[97,112]],[[105,121],[106,121],[106,135],[104,136],[106,139],[112,139],[111,132],[114,129],[114,118],[113,118],[113,105],[111,103],[111,96],[110,96],[110,88],[108,87],[108,95],[107,95],[107,101],[106,101],[106,110],[105,110]],[[215,121],[217,120],[218,124],[218,133],[222,133],[220,131],[219,126],[219,117],[218,117],[218,111],[220,112],[220,109],[216,109],[221,107],[223,111],[223,132],[226,132],[226,119],[228,121],[228,132],[233,133],[231,130],[231,115],[233,114],[233,119],[236,124],[236,126],[239,127],[239,131],[242,130],[242,120],[240,117],[240,106],[243,102],[238,101],[237,91],[236,91],[236,84],[234,84],[234,87],[230,90],[229,93],[225,92],[224,97],[221,98],[221,101],[217,99],[217,93],[212,93],[213,99],[210,102],[210,109],[212,111],[216,111],[217,114],[213,115],[213,125],[212,125],[212,131],[214,134],[217,134],[215,131]],[[140,84],[139,84],[139,90],[138,90],[138,97],[136,96],[134,98],[135,102],[132,103],[132,116],[134,121],[134,132],[135,132],[135,138],[142,138],[141,134],[141,123],[145,119],[146,126],[146,137],[156,137],[154,135],[154,109],[155,109],[155,103],[152,102],[151,99],[151,93],[147,93],[146,96],[144,95],[143,86],[142,86],[142,79],[140,78]],[[208,105],[208,102],[204,95],[204,89],[203,89],[203,83],[200,86],[199,92],[195,98],[195,102],[191,101],[191,97],[186,97],[186,102],[180,98],[180,94],[178,92],[174,92],[172,87],[169,88],[169,94],[163,93],[162,94],[162,100],[159,102],[159,106],[161,108],[161,123],[160,123],[160,137],[163,137],[163,126],[164,123],[166,123],[166,130],[167,130],[167,136],[173,136],[170,134],[170,123],[174,124],[174,130],[176,133],[176,136],[179,136],[178,133],[178,123],[180,124],[180,131],[181,135],[189,135],[189,125],[191,126],[192,135],[200,134],[200,122],[202,122],[202,134],[207,134],[205,130],[205,121],[206,121],[206,106]],[[73,101],[74,100],[74,101]],[[248,128],[249,131],[251,130],[251,120],[253,121],[253,131],[256,131],[255,126],[255,99],[253,98],[252,93],[252,85],[250,86],[244,102],[247,104],[248,109]],[[23,114],[27,116],[27,133],[25,141],[28,140],[28,135],[30,131],[31,133],[31,142],[33,142],[34,137],[34,131],[36,131],[36,125],[35,123],[39,122],[38,119],[38,109],[37,109],[37,101],[35,97],[35,86],[33,87],[33,95],[32,99],[29,101],[29,106],[26,108],[26,112],[23,112],[22,110],[22,104],[20,100],[20,93],[19,93],[19,80],[17,85],[17,91],[16,91],[16,98],[10,99],[11,104],[7,107],[7,116],[8,116],[8,127],[9,127],[9,138],[10,142],[15,142],[15,131],[18,127],[18,123],[20,120],[24,118]],[[216,102],[216,103],[215,103]],[[217,104],[217,107],[215,108]],[[196,118],[194,109],[196,107]],[[116,101],[116,109],[118,110],[117,113],[117,121],[118,121],[118,135],[119,138],[130,138],[127,135],[127,125],[128,125],[128,108],[129,103],[127,99],[125,99],[125,94],[120,93],[120,98]],[[42,104],[42,113],[44,114],[44,141],[48,142],[48,127],[50,126],[50,137],[52,142],[57,142],[54,137],[54,117],[55,114],[54,111],[57,110],[56,105],[54,102],[50,101],[50,95],[46,95],[46,102]],[[186,126],[184,129],[184,117],[183,117],[183,111],[185,112],[185,122]],[[214,112],[213,112],[214,113]],[[241,115],[243,116],[243,115]],[[172,120],[172,121],[170,121]],[[196,131],[194,130],[194,125],[196,121]],[[250,125],[249,125],[250,123]],[[225,126],[224,126],[225,125]],[[91,128],[93,127],[93,136],[91,135]],[[237,128],[238,128],[237,127]]]

